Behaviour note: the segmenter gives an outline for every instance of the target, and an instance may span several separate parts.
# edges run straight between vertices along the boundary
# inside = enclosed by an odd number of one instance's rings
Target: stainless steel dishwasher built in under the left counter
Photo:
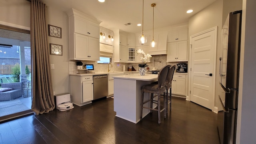
[[[108,75],[93,76],[93,100],[108,96]]]

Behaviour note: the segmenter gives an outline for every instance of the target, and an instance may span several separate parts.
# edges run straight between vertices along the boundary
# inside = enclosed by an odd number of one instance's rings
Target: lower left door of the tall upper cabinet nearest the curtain
[[[75,57],[77,59],[87,59],[88,56],[88,36],[75,34]]]

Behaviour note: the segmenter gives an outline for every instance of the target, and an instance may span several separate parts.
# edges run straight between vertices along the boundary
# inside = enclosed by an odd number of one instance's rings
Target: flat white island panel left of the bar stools
[[[136,80],[114,78],[116,116],[136,123]]]

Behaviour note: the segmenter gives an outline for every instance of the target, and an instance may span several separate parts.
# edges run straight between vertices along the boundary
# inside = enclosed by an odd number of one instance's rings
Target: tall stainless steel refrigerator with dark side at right
[[[242,10],[230,12],[221,31],[220,108],[218,132],[221,144],[235,144],[238,108]]]

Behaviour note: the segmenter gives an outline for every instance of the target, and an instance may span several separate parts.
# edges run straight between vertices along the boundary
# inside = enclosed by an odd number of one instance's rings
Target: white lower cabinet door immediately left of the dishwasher
[[[93,100],[93,81],[83,82],[83,103]]]

